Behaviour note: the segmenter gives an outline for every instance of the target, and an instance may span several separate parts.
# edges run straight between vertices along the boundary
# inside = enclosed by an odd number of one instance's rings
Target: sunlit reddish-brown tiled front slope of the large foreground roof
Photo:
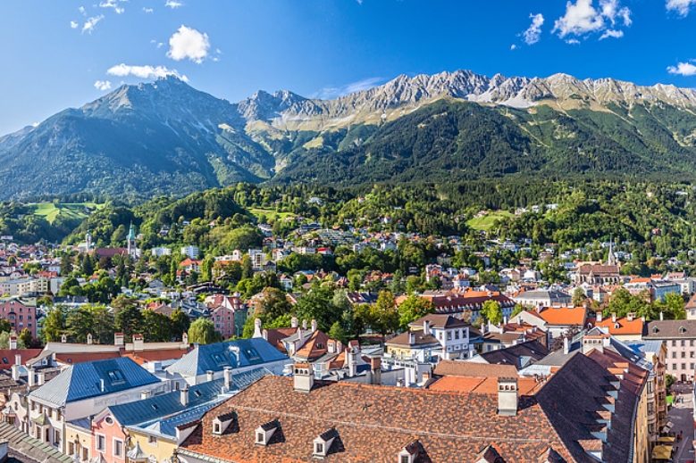
[[[239,463],[310,462],[314,439],[335,427],[327,459],[336,463],[395,461],[415,441],[423,448],[415,463],[470,463],[493,443],[507,461],[536,463],[549,447],[569,458],[541,408],[527,398],[521,402],[517,416],[503,417],[491,394],[347,382],[317,382],[301,393],[290,377],[264,376],[208,411],[178,453]],[[238,414],[234,431],[214,435],[214,418],[230,411]],[[256,445],[256,428],[274,419],[280,427],[269,444]]]

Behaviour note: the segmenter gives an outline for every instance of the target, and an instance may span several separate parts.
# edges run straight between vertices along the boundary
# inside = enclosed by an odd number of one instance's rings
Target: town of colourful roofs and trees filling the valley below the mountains
[[[613,240],[561,251],[482,232],[474,251],[389,231],[389,217],[340,229],[286,216],[284,228],[238,217],[233,230],[260,245],[220,255],[189,241],[220,227],[194,217],[160,227],[160,242],[130,223],[122,247],[90,230],[58,246],[4,236],[11,454],[659,462],[692,450],[685,271],[626,274],[633,257]],[[184,244],[164,245],[177,229]],[[317,269],[331,260],[344,265]]]

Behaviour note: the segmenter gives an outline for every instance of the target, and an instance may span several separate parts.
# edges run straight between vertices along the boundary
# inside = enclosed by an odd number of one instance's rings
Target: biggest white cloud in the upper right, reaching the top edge
[[[568,35],[583,36],[592,32],[604,32],[601,38],[621,37],[623,31],[616,29],[617,22],[630,26],[631,10],[622,7],[619,0],[600,0],[599,8],[592,6],[592,0],[576,0],[566,3],[566,14],[554,23],[552,32],[558,37]],[[611,29],[610,29],[611,28]],[[618,33],[621,35],[618,35]]]

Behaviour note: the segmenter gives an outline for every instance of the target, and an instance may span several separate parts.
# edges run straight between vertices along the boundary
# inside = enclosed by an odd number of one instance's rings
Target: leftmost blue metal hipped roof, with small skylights
[[[104,391],[101,387],[102,381]],[[97,360],[65,368],[58,376],[29,395],[33,399],[63,406],[71,401],[118,393],[159,381],[156,376],[128,358]]]

